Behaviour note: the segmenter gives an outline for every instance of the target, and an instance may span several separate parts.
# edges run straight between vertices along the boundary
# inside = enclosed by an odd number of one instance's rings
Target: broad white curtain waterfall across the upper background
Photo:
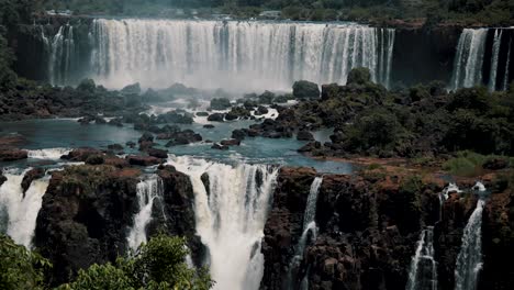
[[[357,24],[94,20],[93,78],[120,88],[289,90],[294,80],[346,83],[354,67],[390,81],[394,30]]]

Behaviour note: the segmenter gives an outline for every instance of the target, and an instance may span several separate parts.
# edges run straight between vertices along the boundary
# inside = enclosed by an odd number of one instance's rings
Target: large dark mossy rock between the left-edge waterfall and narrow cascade
[[[54,171],[37,216],[35,246],[52,260],[52,282],[65,282],[94,263],[126,249],[126,228],[137,210],[141,171],[77,166]]]

